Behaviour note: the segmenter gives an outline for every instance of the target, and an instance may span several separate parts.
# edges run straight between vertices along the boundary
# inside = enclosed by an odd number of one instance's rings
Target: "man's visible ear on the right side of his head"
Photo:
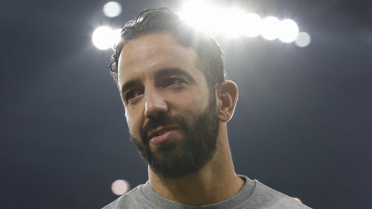
[[[216,88],[218,119],[227,122],[234,113],[238,100],[238,87],[232,81],[224,81]]]

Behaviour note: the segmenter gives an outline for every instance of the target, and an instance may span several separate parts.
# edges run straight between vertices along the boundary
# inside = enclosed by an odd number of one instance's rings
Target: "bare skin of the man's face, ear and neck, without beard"
[[[129,131],[140,138],[140,129],[158,112],[180,114],[193,122],[208,106],[209,90],[203,73],[196,67],[198,55],[191,48],[177,43],[177,37],[168,33],[155,33],[129,41],[122,50],[118,64],[118,84],[140,78],[135,84],[131,100],[121,92]],[[193,81],[180,75],[155,77],[164,68],[180,68]],[[187,82],[171,82],[169,78],[182,78]],[[195,172],[180,179],[164,179],[148,169],[151,188],[161,196],[186,205],[209,205],[226,200],[238,193],[244,181],[237,176],[232,164],[226,122],[234,113],[238,89],[232,81],[224,81],[215,90],[219,132],[217,150],[211,161]],[[176,129],[170,140],[182,140],[183,132]],[[143,143],[143,142],[141,142]],[[150,142],[152,151],[157,144]]]

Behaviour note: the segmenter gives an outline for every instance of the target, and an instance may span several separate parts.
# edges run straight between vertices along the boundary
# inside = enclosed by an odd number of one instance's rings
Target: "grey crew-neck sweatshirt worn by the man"
[[[103,209],[311,209],[298,200],[277,192],[257,180],[238,175],[246,183],[243,188],[227,200],[211,205],[185,205],[166,199],[157,194],[150,181],[135,187]]]

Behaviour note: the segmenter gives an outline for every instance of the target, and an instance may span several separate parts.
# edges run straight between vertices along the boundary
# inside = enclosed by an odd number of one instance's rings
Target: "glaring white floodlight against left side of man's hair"
[[[112,30],[109,27],[102,26],[94,30],[92,41],[94,46],[101,50],[113,48],[120,38],[121,29]]]

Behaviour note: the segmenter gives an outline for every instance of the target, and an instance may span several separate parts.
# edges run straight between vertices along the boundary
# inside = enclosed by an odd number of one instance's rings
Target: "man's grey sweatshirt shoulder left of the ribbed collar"
[[[123,194],[118,199],[116,199],[109,205],[106,205],[102,209],[124,209],[123,206],[128,206],[128,208],[135,208],[136,206],[142,205],[143,199],[141,195],[141,186],[143,186],[143,184]]]

